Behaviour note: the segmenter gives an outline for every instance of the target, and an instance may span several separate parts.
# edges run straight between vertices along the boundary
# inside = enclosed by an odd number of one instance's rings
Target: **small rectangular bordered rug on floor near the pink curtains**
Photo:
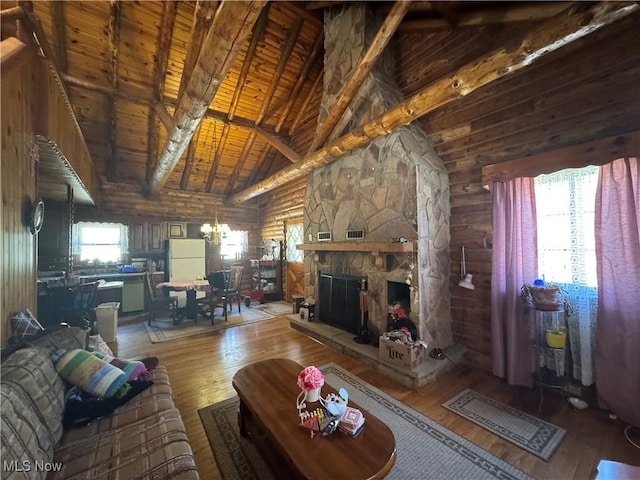
[[[442,406],[543,460],[549,460],[567,433],[563,428],[473,390],[459,393]]]

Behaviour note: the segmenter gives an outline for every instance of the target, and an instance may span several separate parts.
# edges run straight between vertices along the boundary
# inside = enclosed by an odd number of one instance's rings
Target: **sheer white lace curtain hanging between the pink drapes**
[[[598,313],[594,236],[598,167],[567,169],[535,179],[538,272],[559,284],[573,312],[567,317],[568,367],[583,385],[594,383],[594,340]],[[557,359],[547,366],[555,370]],[[561,367],[562,368],[562,367]]]

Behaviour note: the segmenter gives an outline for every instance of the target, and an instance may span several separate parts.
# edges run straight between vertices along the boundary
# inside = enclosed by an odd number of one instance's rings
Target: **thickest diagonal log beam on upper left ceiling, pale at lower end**
[[[200,48],[189,84],[176,107],[174,127],[151,174],[150,195],[157,193],[167,182],[241,45],[251,34],[264,4],[264,0],[223,2],[218,8]]]

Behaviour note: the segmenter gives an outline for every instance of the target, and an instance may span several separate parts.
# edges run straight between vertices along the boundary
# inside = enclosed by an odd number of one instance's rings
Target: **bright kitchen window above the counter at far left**
[[[128,245],[128,228],[120,223],[78,222],[73,227],[73,253],[81,262],[118,262]]]

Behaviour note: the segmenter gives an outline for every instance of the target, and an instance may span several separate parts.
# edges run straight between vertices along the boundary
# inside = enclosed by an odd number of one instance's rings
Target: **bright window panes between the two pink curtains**
[[[596,287],[594,210],[598,167],[535,178],[538,272],[546,281]]]

